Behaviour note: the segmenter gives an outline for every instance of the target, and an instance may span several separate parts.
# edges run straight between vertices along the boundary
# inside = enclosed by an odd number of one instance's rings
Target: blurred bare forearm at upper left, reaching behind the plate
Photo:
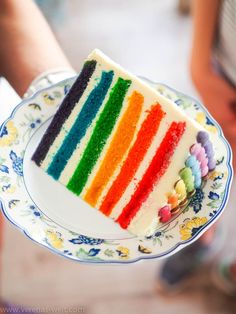
[[[23,95],[45,70],[70,67],[48,24],[31,0],[0,1],[0,73]]]

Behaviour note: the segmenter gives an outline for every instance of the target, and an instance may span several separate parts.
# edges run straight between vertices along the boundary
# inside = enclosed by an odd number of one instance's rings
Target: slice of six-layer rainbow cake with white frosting
[[[85,61],[32,160],[135,235],[169,221],[215,168],[208,133],[99,50]]]

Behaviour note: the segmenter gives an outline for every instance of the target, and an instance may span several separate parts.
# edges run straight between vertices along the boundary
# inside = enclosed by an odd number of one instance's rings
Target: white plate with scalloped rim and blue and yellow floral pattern
[[[0,198],[4,215],[31,240],[79,262],[132,263],[161,258],[195,241],[217,220],[229,197],[232,153],[219,125],[194,99],[148,81],[211,132],[217,166],[183,213],[152,237],[133,237],[94,209],[85,210],[81,200],[30,162],[73,81],[65,80],[24,100],[1,126]]]

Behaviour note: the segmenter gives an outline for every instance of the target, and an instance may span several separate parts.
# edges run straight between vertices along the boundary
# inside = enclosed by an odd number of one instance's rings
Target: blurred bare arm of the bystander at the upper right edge
[[[193,6],[191,75],[207,105],[212,102],[213,93],[222,99],[222,105],[229,104],[236,97],[235,89],[217,73],[213,64],[220,5],[220,0],[194,0]]]

